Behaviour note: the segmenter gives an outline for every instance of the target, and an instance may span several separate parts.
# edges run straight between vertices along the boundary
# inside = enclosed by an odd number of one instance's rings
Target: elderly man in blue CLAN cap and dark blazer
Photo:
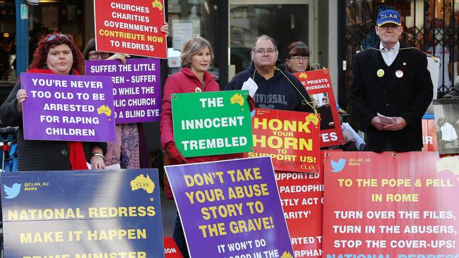
[[[350,89],[351,104],[366,128],[366,150],[420,151],[421,120],[434,93],[427,56],[400,44],[403,26],[398,12],[379,13],[375,30],[381,41],[354,57]]]

